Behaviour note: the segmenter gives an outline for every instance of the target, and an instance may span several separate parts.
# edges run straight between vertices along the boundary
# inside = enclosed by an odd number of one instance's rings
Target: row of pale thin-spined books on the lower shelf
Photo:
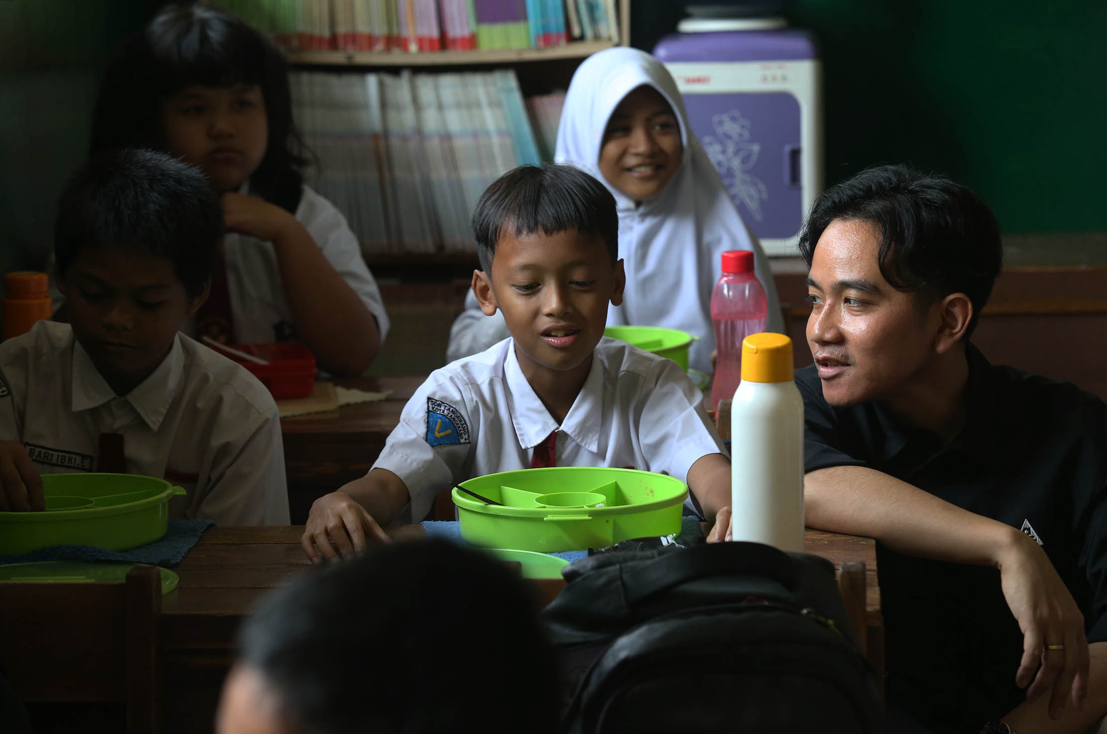
[[[346,216],[365,255],[474,250],[469,217],[484,189],[544,159],[514,71],[290,81],[318,158],[309,183]],[[552,114],[549,101],[542,110]]]

